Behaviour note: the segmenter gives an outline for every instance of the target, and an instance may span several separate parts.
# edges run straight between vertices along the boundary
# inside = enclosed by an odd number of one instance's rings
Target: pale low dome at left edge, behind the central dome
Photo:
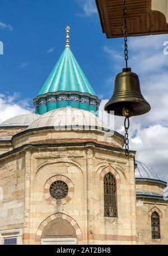
[[[4,121],[2,124],[0,124],[0,127],[8,127],[8,126],[29,126],[32,122],[34,122],[40,115],[36,115],[35,113],[29,113],[25,115],[20,116],[14,116],[6,121]]]

